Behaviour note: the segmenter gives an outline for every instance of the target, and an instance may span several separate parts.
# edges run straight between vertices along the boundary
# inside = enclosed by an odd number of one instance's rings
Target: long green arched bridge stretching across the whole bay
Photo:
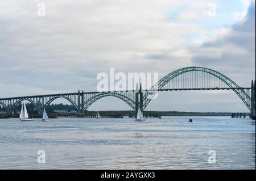
[[[126,102],[134,111],[138,108],[142,111],[159,91],[191,91],[191,90],[233,90],[250,111],[251,117],[255,118],[255,81],[251,81],[250,87],[240,87],[218,71],[203,67],[187,67],[173,71],[164,76],[150,90],[143,90],[142,85],[137,90],[106,91],[106,92],[73,92],[67,94],[48,94],[34,96],[19,96],[13,98],[1,98],[0,106],[8,113],[23,100],[34,104],[39,114],[53,100],[64,98],[75,106],[77,113],[84,113],[94,102],[106,96],[114,96]]]

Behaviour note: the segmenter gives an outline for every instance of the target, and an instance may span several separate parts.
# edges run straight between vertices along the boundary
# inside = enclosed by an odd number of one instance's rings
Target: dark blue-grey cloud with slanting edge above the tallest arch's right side
[[[194,64],[210,66],[249,85],[250,79],[255,79],[255,3],[251,3],[242,22],[217,32],[191,51]],[[232,76],[235,72],[240,75]]]

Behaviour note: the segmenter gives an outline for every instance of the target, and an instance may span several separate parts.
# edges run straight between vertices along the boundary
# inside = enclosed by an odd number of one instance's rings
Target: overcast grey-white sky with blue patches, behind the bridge
[[[46,16],[38,16],[39,2]],[[186,66],[250,87],[255,1],[0,1],[1,98],[96,91],[97,74],[110,68],[162,78]],[[89,108],[130,109],[110,97]],[[146,110],[248,111],[232,91],[160,92]]]

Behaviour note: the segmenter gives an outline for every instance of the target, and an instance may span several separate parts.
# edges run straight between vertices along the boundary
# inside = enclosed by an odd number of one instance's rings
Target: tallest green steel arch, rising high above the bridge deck
[[[224,82],[227,86],[230,87],[230,89],[232,89],[238,95],[238,97],[243,101],[245,106],[251,111],[250,95],[247,94],[245,90],[241,89],[241,87],[238,86],[236,82],[232,81],[232,79],[226,77],[226,75],[219,73],[216,70],[203,68],[199,66],[191,66],[191,67],[178,69],[178,70],[172,71],[172,73],[167,74],[162,79],[160,79],[158,83],[152,86],[151,90],[145,92],[143,96],[143,110],[147,107],[148,103],[151,102],[152,98],[158,93],[158,91],[160,91],[164,87],[164,85],[166,85],[168,82],[178,77],[179,75],[188,73],[190,71],[204,72],[204,73],[213,75],[217,79],[220,79],[220,81]]]

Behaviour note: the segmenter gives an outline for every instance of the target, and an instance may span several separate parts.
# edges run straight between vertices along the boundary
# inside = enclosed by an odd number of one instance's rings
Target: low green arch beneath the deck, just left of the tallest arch
[[[133,110],[135,110],[135,101],[129,98],[128,96],[118,94],[117,92],[100,92],[98,94],[95,94],[91,98],[85,100],[85,103],[83,105],[84,111],[87,110],[94,102],[106,96],[113,96],[115,98],[121,99],[123,100],[123,102],[127,103]]]

